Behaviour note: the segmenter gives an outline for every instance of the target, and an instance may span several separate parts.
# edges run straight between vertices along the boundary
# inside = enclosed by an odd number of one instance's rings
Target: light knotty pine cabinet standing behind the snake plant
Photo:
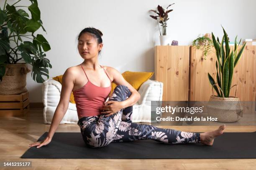
[[[230,46],[232,49],[234,46]],[[238,46],[241,48],[241,46]],[[163,101],[208,101],[212,87],[208,72],[216,81],[217,60],[212,47],[204,60],[203,51],[190,46],[156,46],[155,80],[164,83]],[[242,101],[256,101],[256,46],[248,45],[243,50],[234,68],[230,96]],[[216,95],[216,93],[215,93]]]

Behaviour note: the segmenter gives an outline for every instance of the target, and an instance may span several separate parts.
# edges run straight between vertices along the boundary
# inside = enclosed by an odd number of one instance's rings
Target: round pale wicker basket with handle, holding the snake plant
[[[207,115],[217,117],[218,122],[236,122],[243,117],[241,100],[236,97],[236,94],[235,97],[218,97],[211,95],[207,105]]]

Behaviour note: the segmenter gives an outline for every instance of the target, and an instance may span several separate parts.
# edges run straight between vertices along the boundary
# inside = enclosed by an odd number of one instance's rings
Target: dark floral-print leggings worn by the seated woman
[[[110,100],[124,101],[131,92],[125,85],[115,87]],[[111,142],[129,142],[133,140],[155,140],[166,144],[200,143],[200,133],[188,133],[174,129],[157,128],[156,126],[133,123],[133,107],[129,106],[113,115],[82,117],[77,124],[83,140],[88,147],[100,148]]]

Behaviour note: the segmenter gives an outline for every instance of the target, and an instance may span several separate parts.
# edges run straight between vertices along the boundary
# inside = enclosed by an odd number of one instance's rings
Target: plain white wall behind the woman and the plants
[[[3,9],[3,1],[0,2]],[[8,0],[11,5],[14,0]],[[191,45],[197,35],[213,32],[222,37],[225,28],[230,38],[256,38],[255,0],[38,0],[41,20],[47,34],[40,28],[51,45],[46,52],[51,61],[50,77],[61,75],[68,67],[82,62],[77,51],[76,37],[85,27],[102,31],[104,43],[101,65],[115,67],[121,73],[154,71],[154,46],[159,45],[156,20],[149,15],[157,5],[169,9],[167,35],[179,45]],[[16,5],[30,5],[23,0]],[[24,8],[22,8],[24,9]],[[30,13],[29,13],[30,14]],[[45,78],[46,79],[46,78]],[[151,78],[154,80],[154,77]],[[41,85],[27,75],[31,102],[41,102]]]

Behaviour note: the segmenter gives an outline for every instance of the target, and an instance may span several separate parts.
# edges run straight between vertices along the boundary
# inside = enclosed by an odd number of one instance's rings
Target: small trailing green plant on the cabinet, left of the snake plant
[[[197,49],[202,49],[204,52],[204,59],[206,60],[207,54],[211,51],[212,48],[212,36],[208,33],[204,36],[198,35],[197,39],[192,42],[192,46],[195,46]]]

